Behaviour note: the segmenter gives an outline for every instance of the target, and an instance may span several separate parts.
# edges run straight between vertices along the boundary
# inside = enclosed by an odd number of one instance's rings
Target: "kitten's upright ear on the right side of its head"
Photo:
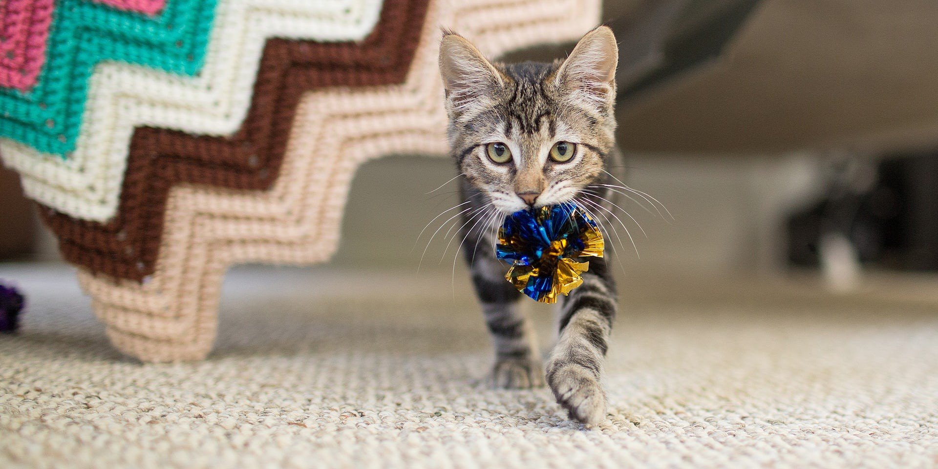
[[[615,67],[619,47],[608,26],[586,33],[557,69],[554,83],[570,98],[597,110],[606,110],[615,100]]]

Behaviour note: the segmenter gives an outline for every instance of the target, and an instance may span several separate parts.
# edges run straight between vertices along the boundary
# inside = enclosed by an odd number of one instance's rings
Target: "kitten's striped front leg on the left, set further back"
[[[488,256],[470,263],[495,346],[495,364],[486,377],[487,384],[496,388],[544,386],[534,332],[520,309],[521,293],[505,280],[506,266]]]

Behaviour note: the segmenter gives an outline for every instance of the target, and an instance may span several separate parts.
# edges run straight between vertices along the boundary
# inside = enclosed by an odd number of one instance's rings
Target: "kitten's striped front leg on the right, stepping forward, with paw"
[[[560,310],[560,339],[547,362],[547,384],[571,418],[595,425],[606,418],[602,362],[615,317],[615,285],[605,259],[590,260],[583,284]]]

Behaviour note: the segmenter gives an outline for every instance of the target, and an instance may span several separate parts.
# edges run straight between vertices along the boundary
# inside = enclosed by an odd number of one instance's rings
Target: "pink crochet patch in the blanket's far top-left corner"
[[[0,86],[27,91],[46,58],[53,0],[0,3]]]

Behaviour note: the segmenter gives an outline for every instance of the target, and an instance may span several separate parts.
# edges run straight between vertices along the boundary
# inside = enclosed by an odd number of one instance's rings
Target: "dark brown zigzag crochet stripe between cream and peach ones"
[[[41,207],[63,256],[95,273],[143,281],[156,268],[170,189],[177,184],[269,189],[300,96],[326,86],[403,83],[428,3],[385,0],[374,30],[357,43],[269,39],[248,116],[231,138],[135,129],[114,219],[74,219]]]

